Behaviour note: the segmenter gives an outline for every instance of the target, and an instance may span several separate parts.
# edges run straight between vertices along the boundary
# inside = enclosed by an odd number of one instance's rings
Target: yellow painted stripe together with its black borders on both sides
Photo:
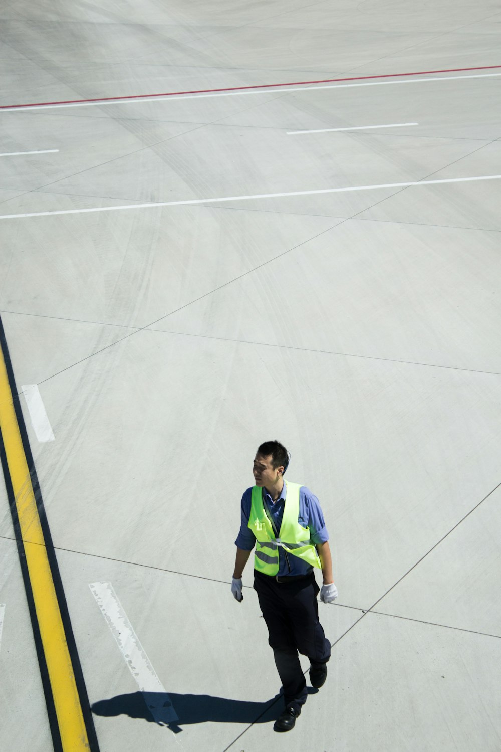
[[[83,673],[0,320],[0,459],[55,752],[98,752]]]

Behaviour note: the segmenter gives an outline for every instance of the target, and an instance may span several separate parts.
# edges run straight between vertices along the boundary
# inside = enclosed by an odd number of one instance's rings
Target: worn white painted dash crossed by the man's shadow
[[[171,699],[132,629],[113,585],[110,582],[92,582],[89,587],[155,722],[159,726],[176,723],[179,718]]]

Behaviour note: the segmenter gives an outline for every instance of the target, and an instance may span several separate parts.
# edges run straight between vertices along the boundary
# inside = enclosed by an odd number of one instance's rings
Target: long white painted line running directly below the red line
[[[412,78],[399,81],[368,81],[367,83],[333,83],[327,86],[298,86],[291,88],[287,86],[284,89],[258,89],[243,92],[214,92],[212,94],[176,94],[169,96],[155,96],[151,99],[141,97],[141,99],[115,99],[113,102],[74,102],[68,105],[31,105],[28,107],[17,107],[10,110],[1,110],[0,114],[7,112],[24,112],[26,110],[54,110],[66,107],[111,107],[113,105],[137,105],[141,102],[179,102],[183,99],[208,99],[218,96],[252,96],[253,94],[273,94],[273,92],[311,92],[318,89],[352,89],[355,86],[394,86],[399,83],[430,83],[430,81],[448,81],[458,78],[491,78],[501,76],[501,73],[479,73],[472,76],[440,76],[436,78]]]

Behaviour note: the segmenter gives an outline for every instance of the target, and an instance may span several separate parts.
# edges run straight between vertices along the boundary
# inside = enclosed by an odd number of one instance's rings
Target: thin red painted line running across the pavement
[[[274,86],[306,86],[308,83],[333,83],[336,81],[361,81],[370,78],[394,78],[397,76],[426,76],[431,73],[458,73],[459,71],[487,71],[501,68],[501,65],[478,65],[475,68],[443,68],[439,71],[413,71],[412,73],[385,73],[379,76],[352,76],[350,78],[321,78],[315,81],[288,81],[287,83],[255,83],[252,86],[229,86],[224,89],[192,89],[186,92],[164,92],[163,94],[133,94],[131,96],[107,96],[98,99],[65,99],[62,102],[30,102],[28,105],[2,105],[0,110],[14,110],[20,107],[46,107],[47,105],[83,105],[86,102],[114,102],[116,99],[154,99],[159,96],[180,96],[182,94],[210,94],[212,92],[235,92],[245,89],[273,89]]]

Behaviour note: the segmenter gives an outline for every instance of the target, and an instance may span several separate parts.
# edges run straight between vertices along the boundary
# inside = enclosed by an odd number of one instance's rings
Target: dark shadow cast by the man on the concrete
[[[309,694],[318,692],[308,687]],[[99,700],[92,712],[101,716],[128,715],[168,726],[178,733],[192,723],[270,723],[283,710],[282,695],[265,702],[232,700],[212,695],[182,695],[161,692],[133,692]]]

